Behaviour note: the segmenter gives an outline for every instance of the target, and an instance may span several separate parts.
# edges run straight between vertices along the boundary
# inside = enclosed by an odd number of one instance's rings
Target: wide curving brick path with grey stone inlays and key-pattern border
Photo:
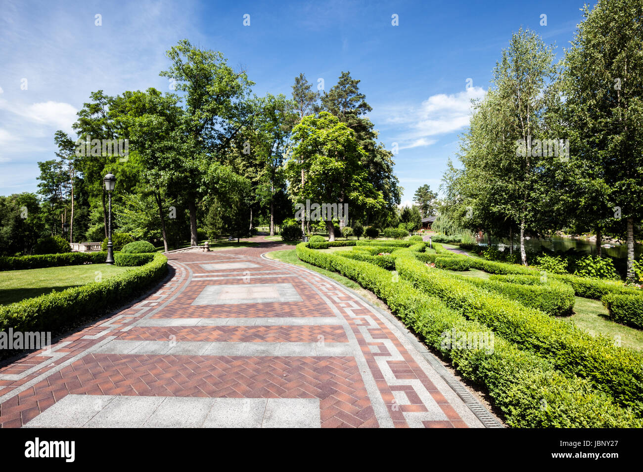
[[[0,369],[0,426],[483,426],[394,320],[275,249],[168,254],[156,292]]]

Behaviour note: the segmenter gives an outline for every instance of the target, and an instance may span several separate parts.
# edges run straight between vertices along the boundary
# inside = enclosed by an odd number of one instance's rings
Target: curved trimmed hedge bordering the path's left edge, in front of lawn
[[[127,270],[102,282],[91,282],[40,297],[0,306],[0,331],[57,332],[67,322],[100,315],[107,308],[131,300],[167,274],[167,258],[155,254],[143,267]]]

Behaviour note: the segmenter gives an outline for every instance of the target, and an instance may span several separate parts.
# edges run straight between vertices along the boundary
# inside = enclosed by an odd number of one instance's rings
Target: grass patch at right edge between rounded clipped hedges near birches
[[[629,328],[622,324],[615,323],[606,318],[607,308],[603,306],[600,300],[592,300],[583,297],[575,297],[574,314],[563,319],[574,322],[576,326],[591,335],[601,334],[608,339],[614,340],[623,347],[631,347],[640,351],[643,349],[643,331],[640,329]]]

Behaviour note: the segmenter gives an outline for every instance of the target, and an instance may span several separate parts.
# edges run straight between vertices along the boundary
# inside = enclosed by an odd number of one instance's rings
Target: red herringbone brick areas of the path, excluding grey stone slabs
[[[255,238],[260,240],[260,238]],[[318,398],[322,427],[380,426],[373,401],[383,402],[390,424],[408,427],[407,415],[426,414],[427,405],[418,389],[439,405],[445,420],[422,421],[428,428],[467,427],[460,415],[433,385],[386,324],[354,302],[352,297],[309,272],[276,266],[257,256],[266,250],[292,249],[276,243],[259,248],[224,250],[210,253],[186,252],[168,255],[176,274],[158,290],[129,308],[100,320],[78,333],[59,340],[53,351],[62,357],[51,360],[42,353],[33,353],[0,369],[0,374],[23,374],[35,365],[37,371],[19,380],[0,379],[0,427],[19,427],[68,394],[185,396],[230,398]],[[240,258],[239,258],[240,256]],[[203,288],[212,284],[246,283],[244,279],[190,281],[190,274],[212,273],[195,262],[214,263],[223,259],[251,260],[259,267],[254,271],[279,270],[271,277],[250,277],[249,283],[292,283],[302,297],[301,302],[274,302],[217,306],[191,306]],[[257,274],[258,275],[258,274]],[[262,272],[261,275],[269,275]],[[201,277],[201,276],[199,276]],[[309,283],[332,303],[334,310]],[[175,297],[176,296],[176,297]],[[172,299],[174,297],[174,299]],[[379,390],[379,399],[368,396],[367,387],[356,358],[346,356],[172,356],[152,354],[102,354],[87,352],[107,337],[120,340],[166,340],[174,335],[177,341],[204,342],[323,342],[346,343],[349,338],[343,326],[131,326],[143,317],[225,318],[225,317],[334,317],[339,310],[361,348]],[[152,313],[156,311],[156,313]],[[120,319],[116,319],[120,317]],[[368,325],[368,320],[374,325]],[[358,322],[359,321],[359,322]],[[105,332],[107,331],[107,332]],[[365,338],[365,333],[372,340]],[[84,338],[93,336],[96,339]],[[390,353],[389,347],[394,348]],[[377,351],[372,352],[372,346]],[[57,372],[47,372],[56,365],[80,356]],[[401,359],[386,360],[401,356]],[[382,361],[378,363],[378,359]],[[382,363],[383,362],[383,363]],[[382,368],[386,372],[382,371]],[[425,367],[426,368],[426,367]],[[27,381],[41,375],[28,389]],[[13,394],[14,392],[18,394]],[[397,405],[393,392],[402,390],[408,405]],[[413,413],[415,412],[415,413]],[[424,413],[422,413],[424,412]]]

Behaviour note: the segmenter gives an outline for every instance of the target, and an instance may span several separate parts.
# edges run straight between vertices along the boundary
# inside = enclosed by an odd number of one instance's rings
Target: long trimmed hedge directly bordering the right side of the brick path
[[[592,390],[588,381],[557,372],[552,363],[521,350],[501,337],[494,337],[493,353],[481,349],[444,349],[442,333],[488,331],[483,324],[467,320],[428,297],[404,279],[372,264],[325,254],[300,244],[298,258],[318,267],[339,272],[372,290],[403,322],[424,337],[450,360],[464,378],[485,385],[494,405],[505,414],[507,424],[527,428],[633,428],[641,421]],[[543,407],[543,405],[545,405]]]

